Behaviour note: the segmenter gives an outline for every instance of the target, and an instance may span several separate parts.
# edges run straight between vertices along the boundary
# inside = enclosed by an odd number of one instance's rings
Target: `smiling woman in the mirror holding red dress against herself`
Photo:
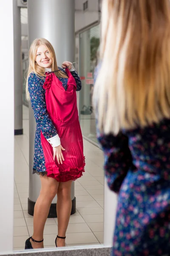
[[[34,232],[26,249],[43,248],[43,230],[51,202],[57,194],[58,235],[56,247],[65,246],[71,214],[71,183],[85,166],[76,91],[81,81],[71,62],[57,67],[54,48],[44,38],[29,50],[26,86],[37,122],[33,173],[40,175],[41,191],[34,207]]]

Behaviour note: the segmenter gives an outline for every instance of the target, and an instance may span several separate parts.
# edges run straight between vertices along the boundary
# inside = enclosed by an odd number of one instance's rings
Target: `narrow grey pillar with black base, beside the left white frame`
[[[23,134],[23,75],[21,58],[21,18],[17,0],[13,0],[14,23],[14,134]]]

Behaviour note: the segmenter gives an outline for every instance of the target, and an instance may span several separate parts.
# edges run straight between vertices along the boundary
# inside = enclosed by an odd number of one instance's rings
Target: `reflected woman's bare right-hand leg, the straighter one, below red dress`
[[[68,222],[71,214],[71,183],[60,182],[57,191],[57,219],[58,219],[58,236],[65,237]],[[65,239],[57,238],[57,247],[65,246]]]

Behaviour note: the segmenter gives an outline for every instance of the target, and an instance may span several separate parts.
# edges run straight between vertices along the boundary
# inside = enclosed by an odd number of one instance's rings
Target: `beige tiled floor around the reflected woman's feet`
[[[28,108],[23,107],[24,134],[15,136],[14,250],[23,250],[33,232],[33,217],[27,212],[28,199]],[[77,212],[71,215],[66,234],[68,246],[103,243],[104,173],[102,151],[84,140],[85,174],[75,181]],[[44,246],[54,247],[57,218],[48,218]]]

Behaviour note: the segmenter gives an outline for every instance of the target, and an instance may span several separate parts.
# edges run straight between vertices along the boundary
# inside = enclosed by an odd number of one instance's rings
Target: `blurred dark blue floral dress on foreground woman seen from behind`
[[[170,120],[97,137],[108,185],[119,193],[112,255],[169,256]]]

